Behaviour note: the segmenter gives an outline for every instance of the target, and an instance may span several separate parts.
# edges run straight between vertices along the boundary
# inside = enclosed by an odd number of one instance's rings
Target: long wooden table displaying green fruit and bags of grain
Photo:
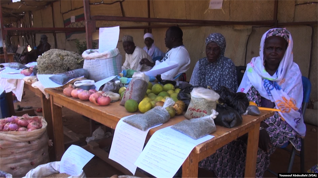
[[[128,113],[123,106],[120,106],[119,102],[111,103],[108,106],[96,106],[89,101],[81,101],[72,97],[66,97],[63,95],[63,92],[59,92],[54,89],[45,89],[45,91],[49,93],[51,97],[54,134],[53,142],[56,151],[56,159],[58,161],[61,159],[62,155],[65,152],[63,144],[63,122],[61,110],[62,106],[67,107],[86,117],[89,117],[92,120],[95,120],[112,129],[116,128],[116,125],[121,118],[132,114]],[[212,135],[215,137],[200,145],[197,145],[192,150],[189,157],[184,161],[182,165],[182,177],[197,177],[199,161],[214,154],[218,148],[223,147],[224,145],[246,133],[248,133],[248,141],[245,177],[255,177],[260,122],[270,116],[273,116],[273,114],[274,112],[272,111],[262,111],[259,116],[243,116],[243,123],[240,126],[231,129],[217,126],[217,131],[212,133]],[[186,118],[184,118],[183,116],[174,117],[163,125],[151,129],[148,133],[147,138],[149,139],[150,136],[157,130],[164,127],[172,126],[185,119]],[[88,151],[92,152],[96,156],[101,157],[107,163],[115,165],[114,167],[118,168],[123,173],[131,175],[131,173],[127,169],[121,168],[121,165],[112,160],[109,160],[108,156],[101,156],[102,149],[98,148],[98,144],[89,145],[89,147],[86,147],[86,149],[88,149]]]

